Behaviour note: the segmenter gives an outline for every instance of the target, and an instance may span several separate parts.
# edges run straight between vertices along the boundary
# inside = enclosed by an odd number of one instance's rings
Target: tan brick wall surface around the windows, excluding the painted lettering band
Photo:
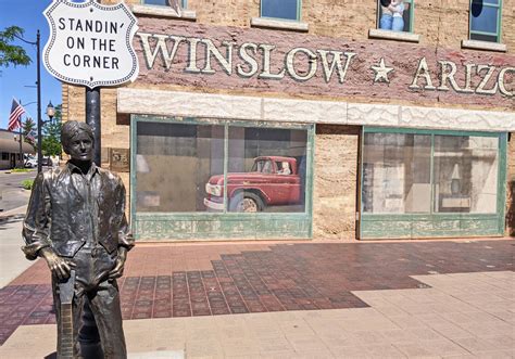
[[[103,0],[117,3],[118,0]],[[140,3],[140,0],[125,0]],[[460,51],[461,40],[468,38],[468,0],[416,1],[414,33],[422,36],[419,46],[449,48]],[[259,16],[259,0],[188,0],[197,12],[197,23],[219,26],[250,27],[250,18]],[[503,0],[502,42],[508,53],[515,49],[515,0]],[[376,3],[363,0],[304,0],[302,21],[309,34],[365,41],[368,30],[376,28]],[[185,22],[188,25],[189,22]],[[390,41],[385,40],[388,47]],[[399,42],[397,42],[399,43]],[[460,52],[456,52],[461,56]],[[462,56],[463,57],[463,56]],[[143,87],[133,84],[131,87]],[[171,85],[155,89],[181,89]],[[226,92],[216,90],[216,92]],[[63,120],[85,118],[84,88],[63,85]],[[102,148],[129,148],[129,123],[116,117],[116,90],[102,89]],[[416,103],[416,101],[414,102]],[[466,107],[466,106],[465,106]],[[488,108],[486,108],[488,110]],[[318,126],[316,133],[314,235],[315,238],[353,239],[357,185],[356,128]],[[106,151],[104,151],[106,152]],[[508,145],[507,223],[515,234],[515,141]],[[129,188],[129,176],[123,174]],[[128,193],[127,193],[128,194]]]

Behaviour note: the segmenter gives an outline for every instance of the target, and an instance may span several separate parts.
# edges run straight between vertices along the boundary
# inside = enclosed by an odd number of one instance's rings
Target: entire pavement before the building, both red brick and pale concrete
[[[513,240],[139,244],[130,358],[513,358]],[[0,290],[1,358],[54,351],[46,265]],[[27,345],[27,337],[38,345]]]

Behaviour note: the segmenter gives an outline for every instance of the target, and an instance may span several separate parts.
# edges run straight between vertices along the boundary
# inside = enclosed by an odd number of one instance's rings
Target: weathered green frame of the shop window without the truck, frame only
[[[403,214],[387,214],[387,213],[365,213],[363,209],[363,177],[364,177],[364,137],[365,133],[403,133],[403,134],[428,134],[431,137],[431,158],[430,158],[430,184],[431,184],[431,203],[430,213],[403,213]],[[431,129],[410,129],[410,128],[387,128],[387,127],[366,127],[362,129],[362,140],[360,145],[360,185],[359,185],[359,205],[360,210],[360,225],[357,234],[360,239],[380,239],[380,238],[434,238],[434,236],[467,236],[467,235],[503,235],[505,227],[505,201],[506,201],[506,152],[507,152],[507,133],[506,132],[480,132],[480,131],[452,131],[452,130],[431,130]],[[498,183],[497,183],[497,203],[495,213],[492,214],[475,214],[475,213],[450,213],[450,211],[436,211],[435,210],[435,136],[469,136],[469,137],[493,137],[499,139],[498,144]],[[474,230],[469,230],[466,233],[453,233],[445,232],[444,229],[440,229],[438,232],[435,229],[435,233],[428,230],[425,235],[418,234],[405,234],[402,229],[399,229],[399,225],[412,226],[418,222],[426,222],[434,228],[445,227],[445,222],[449,221],[468,222],[468,221],[490,221],[492,227],[489,233],[476,233]],[[407,225],[410,223],[410,225]],[[388,226],[387,226],[388,225]],[[364,226],[369,226],[364,230]],[[385,230],[381,228],[385,227]],[[414,226],[414,227],[415,227]],[[372,230],[370,230],[372,229]],[[395,232],[398,230],[398,232]],[[419,230],[419,228],[418,228]],[[494,230],[494,232],[493,232]],[[404,234],[400,234],[400,233]],[[422,232],[422,231],[420,231]],[[370,235],[375,233],[377,235]],[[382,235],[381,235],[382,234]]]

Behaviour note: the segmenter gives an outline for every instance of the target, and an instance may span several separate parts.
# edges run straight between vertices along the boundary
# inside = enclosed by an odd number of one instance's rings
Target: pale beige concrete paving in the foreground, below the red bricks
[[[431,289],[353,292],[368,308],[125,321],[129,358],[515,356],[513,272],[415,279]],[[24,325],[0,357],[42,358],[54,344],[54,325]]]

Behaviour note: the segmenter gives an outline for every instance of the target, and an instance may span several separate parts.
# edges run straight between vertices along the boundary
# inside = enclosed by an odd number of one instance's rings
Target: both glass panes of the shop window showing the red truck
[[[305,211],[306,142],[307,129],[138,121],[136,211]]]

